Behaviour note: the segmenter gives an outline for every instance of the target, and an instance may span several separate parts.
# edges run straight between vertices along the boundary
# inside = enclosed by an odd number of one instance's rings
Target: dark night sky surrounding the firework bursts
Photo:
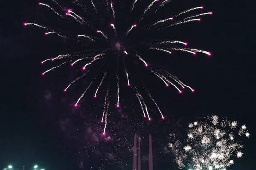
[[[116,163],[113,163],[111,156],[115,155],[116,159],[119,159],[118,156],[123,154],[125,162],[128,163],[132,159],[129,148],[113,151],[116,145],[120,144],[116,141],[128,145],[132,143],[132,135],[135,131],[140,131],[145,141],[148,133],[152,133],[155,150],[163,150],[164,146],[167,146],[167,135],[170,133],[165,130],[175,129],[175,125],[179,124],[178,120],[187,125],[197,116],[216,114],[247,125],[251,138],[244,145],[245,156],[237,160],[229,169],[252,169],[253,160],[256,159],[253,154],[255,151],[253,126],[256,118],[254,90],[256,60],[252,52],[255,45],[253,10],[250,4],[242,1],[173,1],[171,14],[201,5],[204,5],[206,11],[213,11],[212,16],[201,17],[200,23],[183,25],[179,27],[180,29],[170,29],[172,31],[166,34],[166,39],[168,36],[180,37],[194,47],[212,52],[211,57],[201,54],[196,57],[187,54],[182,56],[183,53],[175,52],[172,57],[163,60],[170,63],[164,66],[184,82],[195,87],[195,93],[185,91],[184,94],[179,95],[177,91],[169,89],[166,92],[166,89],[158,88],[160,84],[152,82],[151,87],[154,88],[151,92],[157,96],[156,100],[167,115],[166,119],[169,120],[159,123],[154,120],[159,113],[153,112],[154,122],[150,125],[141,121],[141,118],[135,114],[131,115],[139,111],[139,107],[134,106],[137,103],[134,104],[133,101],[130,102],[131,104],[126,103],[123,110],[118,110],[117,113],[113,111],[113,115],[123,116],[125,121],[116,116],[110,119],[109,133],[112,135],[112,142],[107,143],[108,139],[99,138],[97,145],[91,142],[90,137],[93,136],[84,133],[84,131],[98,132],[92,116],[93,114],[100,119],[102,115],[101,111],[97,111],[98,108],[93,111],[97,103],[94,102],[94,106],[90,107],[87,107],[87,103],[83,103],[79,110],[74,111],[70,106],[72,104],[70,100],[77,99],[79,93],[76,89],[73,89],[71,94],[62,93],[63,83],[66,85],[71,79],[65,79],[66,77],[60,74],[41,76],[41,72],[46,67],[40,62],[48,58],[46,56],[60,54],[69,42],[60,38],[46,38],[43,35],[44,31],[23,26],[23,22],[30,20],[38,19],[38,22],[46,22],[51,19],[49,11],[45,15],[46,11],[40,10],[38,2],[34,0],[0,2],[0,6],[3,7],[0,15],[2,59],[0,62],[0,168],[8,164],[13,164],[19,169],[23,165],[29,168],[33,164],[38,164],[46,170],[78,170],[83,162],[85,170],[96,170],[97,164],[104,164],[105,168],[113,169]],[[69,3],[64,4],[69,7]],[[50,20],[50,23],[54,22],[53,19]],[[58,25],[58,22],[55,24]],[[63,72],[70,74],[69,77],[73,75],[69,70]],[[124,96],[128,94],[126,92]],[[129,96],[124,98],[128,101],[132,100]],[[120,127],[117,127],[118,124]],[[145,129],[139,130],[140,127]],[[121,140],[125,135],[128,136]],[[124,141],[126,139],[130,141]],[[160,146],[157,146],[158,143]],[[87,145],[92,146],[94,149],[89,150],[96,154],[87,152],[87,149],[84,149]],[[172,158],[168,154],[154,160],[157,160],[154,162],[154,169],[159,167],[171,170],[175,167],[173,163],[169,163],[172,162]],[[108,166],[112,163],[114,164],[112,167]],[[146,164],[146,161],[143,163]],[[129,166],[124,167],[131,169]],[[114,168],[120,169],[120,167]]]

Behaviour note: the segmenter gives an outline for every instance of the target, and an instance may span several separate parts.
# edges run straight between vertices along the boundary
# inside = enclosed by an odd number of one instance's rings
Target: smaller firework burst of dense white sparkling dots
[[[169,147],[175,153],[180,168],[225,170],[234,164],[234,159],[243,156],[241,138],[249,136],[245,125],[241,126],[218,116],[209,116],[189,124],[184,144],[172,141]],[[174,139],[172,135],[171,139]]]

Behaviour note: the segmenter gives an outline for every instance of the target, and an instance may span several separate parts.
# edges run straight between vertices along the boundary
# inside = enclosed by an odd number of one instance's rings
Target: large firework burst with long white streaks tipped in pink
[[[104,91],[106,96],[108,96],[110,91],[107,90],[107,87],[110,87],[111,89],[116,88],[116,97],[115,99],[111,99],[111,102],[110,99],[105,101],[104,107],[108,108],[108,106],[111,107],[111,105],[116,105],[116,107],[119,107],[122,104],[120,102],[124,98],[122,93],[122,91],[124,91],[124,87],[121,84],[120,77],[125,76],[127,77],[128,83],[126,87],[131,87],[135,92],[134,96],[137,96],[137,102],[138,105],[141,106],[144,117],[147,115],[148,119],[151,120],[147,109],[147,103],[151,100],[159,111],[161,118],[164,119],[163,113],[160,111],[160,107],[153,99],[153,96],[151,96],[150,91],[148,91],[144,85],[140,88],[136,86],[134,77],[137,75],[132,74],[134,65],[132,65],[130,62],[134,59],[140,60],[141,63],[144,64],[144,66],[141,65],[141,67],[145,67],[148,74],[151,74],[152,77],[162,81],[164,85],[172,85],[179,93],[182,92],[181,89],[183,88],[189,88],[191,91],[194,91],[191,87],[181,82],[180,79],[172,75],[169,71],[163,70],[163,68],[157,68],[153,64],[149,63],[147,61],[147,56],[143,56],[141,51],[158,51],[159,54],[163,55],[163,57],[165,55],[172,55],[172,51],[210,55],[208,51],[189,48],[187,47],[186,42],[182,42],[180,40],[167,40],[166,37],[162,36],[159,36],[159,40],[149,40],[148,38],[150,37],[152,31],[154,31],[154,34],[157,35],[160,34],[162,29],[165,28],[170,28],[184,23],[198,22],[200,20],[200,18],[198,18],[199,16],[212,14],[212,12],[199,12],[199,14],[188,16],[187,14],[190,12],[196,12],[198,10],[200,11],[203,8],[195,7],[172,14],[170,16],[165,16],[159,20],[150,21],[149,16],[155,15],[158,11],[160,11],[160,9],[163,9],[163,7],[170,2],[170,0],[154,0],[147,5],[145,2],[137,2],[137,0],[134,0],[134,2],[131,4],[125,0],[122,2],[109,2],[108,0],[102,0],[101,2],[95,0],[72,0],[72,2],[73,4],[70,5],[75,5],[73,10],[67,9],[56,0],[52,0],[52,4],[39,3],[39,5],[44,8],[45,12],[49,13],[49,15],[56,15],[60,22],[72,25],[74,32],[84,30],[79,34],[67,33],[67,31],[64,31],[65,28],[52,28],[38,23],[24,23],[24,25],[37,26],[38,28],[47,30],[45,33],[47,36],[57,35],[58,37],[70,39],[86,46],[86,51],[60,54],[58,56],[45,59],[41,62],[42,64],[50,61],[59,62],[56,64],[56,66],[44,71],[43,75],[48,74],[50,71],[61,69],[61,67],[67,63],[70,63],[71,66],[79,65],[80,63],[83,64],[82,69],[85,70],[86,73],[81,74],[81,76],[74,79],[70,84],[67,84],[64,87],[64,91],[71,89],[72,85],[76,83],[77,80],[81,78],[86,79],[88,72],[95,72],[95,68],[99,69],[99,67],[102,67],[102,65],[106,65],[103,76],[98,75],[99,77],[94,77],[91,80],[81,96],[78,96],[75,106],[79,106],[78,103],[81,102],[84,94],[86,94],[89,89],[94,91],[94,97],[96,98],[96,94],[99,93],[100,88],[102,88],[102,91]],[[145,8],[140,8],[140,6],[145,6]],[[127,12],[123,10],[124,8],[127,8]],[[137,12],[134,12],[135,9],[140,11],[141,15],[137,15]],[[137,17],[134,17],[136,15]],[[123,31],[120,31],[122,29]],[[141,35],[146,35],[145,37],[147,37],[147,40]],[[113,56],[116,57],[114,61],[116,71],[108,69],[107,66],[110,62],[113,63]],[[112,74],[116,75],[112,76]],[[102,81],[99,82],[98,85],[94,85],[93,80],[95,79],[101,79]],[[110,86],[108,84],[110,79],[112,79],[111,82],[116,82],[115,86]],[[143,93],[147,95],[147,99],[149,99],[148,102],[145,101],[144,96],[140,91],[144,91]],[[109,97],[110,96],[108,96],[108,98]],[[105,111],[104,109],[103,118],[104,116],[107,116],[107,110]],[[106,120],[107,119],[105,118],[105,122]]]

